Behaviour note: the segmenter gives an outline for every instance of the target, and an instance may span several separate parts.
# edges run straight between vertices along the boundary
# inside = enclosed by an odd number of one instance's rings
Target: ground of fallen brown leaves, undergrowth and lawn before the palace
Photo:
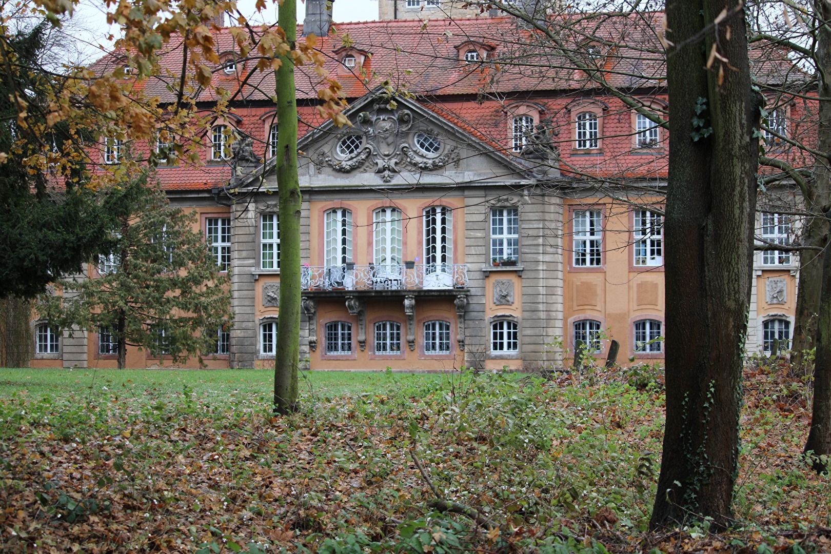
[[[312,373],[287,418],[270,387],[268,371],[0,370],[0,551],[831,550],[829,479],[799,457],[809,390],[775,367],[745,374],[721,535],[646,532],[654,370]]]

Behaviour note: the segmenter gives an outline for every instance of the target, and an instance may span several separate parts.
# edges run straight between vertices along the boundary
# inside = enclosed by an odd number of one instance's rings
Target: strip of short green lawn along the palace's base
[[[456,377],[458,379],[458,377]],[[386,394],[411,383],[445,383],[453,374],[406,374],[347,371],[301,372],[303,397],[361,393]],[[273,390],[273,370],[86,370],[0,368],[0,398],[29,395],[180,393],[188,385],[204,396],[266,393]],[[106,388],[105,388],[106,387]]]

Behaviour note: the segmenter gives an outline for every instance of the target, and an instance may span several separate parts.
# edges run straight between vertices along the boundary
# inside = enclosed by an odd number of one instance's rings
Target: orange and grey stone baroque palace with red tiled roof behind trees
[[[413,15],[420,2],[405,0],[397,2],[401,16],[384,7],[381,21],[337,23],[328,32],[318,3],[307,0],[314,17],[307,15],[306,31],[323,37],[352,126],[319,119],[312,77],[298,71],[301,366],[538,368],[567,358],[578,339],[597,356],[617,340],[624,363],[661,360],[666,131],[586,86],[577,70],[558,63],[498,69],[517,53],[514,36],[523,32],[509,17],[465,12],[425,25]],[[236,61],[227,29],[215,39],[227,46],[217,78],[232,86],[250,68]],[[118,63],[114,53],[96,68]],[[774,69],[770,78],[786,84],[788,64]],[[660,63],[638,71],[661,71]],[[273,90],[273,75],[256,79],[214,121],[203,166],[171,160],[157,169],[170,201],[199,212],[216,262],[232,275],[234,326],[205,357],[214,368],[272,365],[276,345],[276,122],[261,92]],[[643,105],[666,107],[660,80],[623,72],[615,79]],[[412,95],[391,102],[382,81]],[[158,77],[145,87],[164,98],[166,84]],[[206,99],[204,109],[210,105]],[[802,117],[804,108],[785,102],[770,121],[790,136]],[[229,127],[253,140],[264,164],[224,157]],[[120,149],[102,138],[101,164],[118,163]],[[765,240],[787,243],[793,233],[788,216],[760,219]],[[776,251],[755,258],[748,351],[789,338],[796,261]],[[33,366],[116,365],[108,330],[35,325]],[[127,365],[170,360],[130,349]]]

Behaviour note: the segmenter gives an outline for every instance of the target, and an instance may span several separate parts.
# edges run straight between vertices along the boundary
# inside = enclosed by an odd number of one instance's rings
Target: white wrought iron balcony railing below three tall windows
[[[358,266],[305,266],[304,291],[396,291],[468,286],[465,263],[396,263]]]

